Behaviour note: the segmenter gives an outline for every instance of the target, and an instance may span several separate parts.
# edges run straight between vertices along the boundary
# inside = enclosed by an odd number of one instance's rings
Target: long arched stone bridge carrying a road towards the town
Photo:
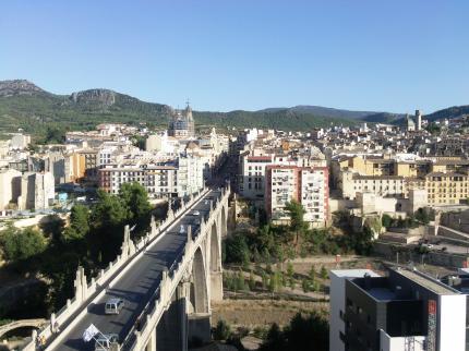
[[[139,242],[125,227],[121,254],[97,277],[87,279],[82,267],[75,296],[33,331],[23,349],[94,350],[84,330],[94,324],[118,336],[120,350],[187,350],[193,340],[211,340],[211,301],[223,299],[221,238],[227,231],[228,189],[204,189]],[[199,213],[197,213],[199,211]],[[181,230],[183,229],[183,230]],[[105,314],[105,303],[119,298],[124,307]]]

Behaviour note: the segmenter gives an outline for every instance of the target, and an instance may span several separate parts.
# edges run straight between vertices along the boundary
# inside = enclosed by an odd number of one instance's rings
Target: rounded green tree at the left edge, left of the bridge
[[[0,237],[4,257],[11,262],[28,259],[46,250],[46,240],[35,229],[8,229]]]

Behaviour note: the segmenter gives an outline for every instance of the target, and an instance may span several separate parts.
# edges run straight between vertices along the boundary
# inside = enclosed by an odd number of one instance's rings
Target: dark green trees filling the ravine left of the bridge
[[[0,255],[7,261],[3,269],[25,277],[40,277],[47,282],[40,293],[28,296],[29,304],[21,311],[0,308],[0,318],[34,313],[47,316],[73,296],[76,267],[82,265],[88,277],[95,276],[119,254],[123,227],[134,227],[133,238],[143,234],[149,225],[152,207],[145,189],[137,183],[124,184],[118,195],[98,191],[98,201],[91,208],[72,207],[70,225],[57,215],[34,228],[11,227],[0,232]],[[8,311],[7,311],[8,310]]]

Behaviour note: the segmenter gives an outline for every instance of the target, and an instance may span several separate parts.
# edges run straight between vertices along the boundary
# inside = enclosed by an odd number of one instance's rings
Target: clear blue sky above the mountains
[[[197,110],[469,104],[467,0],[14,0],[0,80]]]

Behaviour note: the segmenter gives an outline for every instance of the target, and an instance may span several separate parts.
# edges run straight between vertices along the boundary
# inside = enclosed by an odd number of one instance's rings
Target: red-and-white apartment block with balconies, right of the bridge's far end
[[[289,220],[285,206],[296,199],[303,205],[304,220],[313,227],[323,227],[329,216],[328,196],[326,167],[266,167],[265,209],[268,218],[275,222]]]

